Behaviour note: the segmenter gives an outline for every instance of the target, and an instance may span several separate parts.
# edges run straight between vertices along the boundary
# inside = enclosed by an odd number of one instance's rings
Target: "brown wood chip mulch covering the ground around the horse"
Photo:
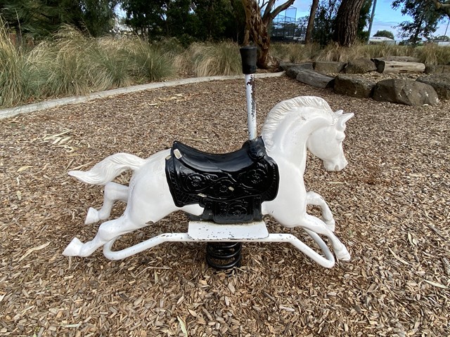
[[[352,254],[333,269],[288,244],[244,244],[243,266],[229,273],[207,267],[200,243],[120,261],[101,249],[61,255],[73,237],[94,237],[98,224],[84,218],[103,202],[101,187],[69,170],[116,152],[148,157],[173,140],[236,150],[247,138],[244,90],[243,81],[212,81],[0,121],[0,336],[450,335],[450,101],[408,107],[257,79],[259,128],[271,107],[297,95],[355,113],[347,168],[326,172],[309,157],[305,174]],[[123,210],[117,204],[113,217]],[[187,223],[174,213],[117,246],[186,232]]]

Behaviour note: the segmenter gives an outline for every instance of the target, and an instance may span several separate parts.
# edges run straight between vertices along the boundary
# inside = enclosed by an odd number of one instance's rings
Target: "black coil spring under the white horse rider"
[[[208,242],[206,262],[217,270],[240,267],[242,242]]]

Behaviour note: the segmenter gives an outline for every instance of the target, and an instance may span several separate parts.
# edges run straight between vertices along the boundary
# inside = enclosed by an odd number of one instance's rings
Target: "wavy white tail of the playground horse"
[[[117,153],[106,157],[89,171],[69,171],[69,176],[75,177],[83,183],[105,185],[124,171],[136,171],[145,161],[146,159],[133,154]]]

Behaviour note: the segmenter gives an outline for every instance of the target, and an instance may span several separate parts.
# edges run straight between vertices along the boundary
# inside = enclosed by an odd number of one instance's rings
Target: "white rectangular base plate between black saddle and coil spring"
[[[198,241],[251,241],[269,237],[264,221],[219,225],[208,221],[190,221],[188,236]]]

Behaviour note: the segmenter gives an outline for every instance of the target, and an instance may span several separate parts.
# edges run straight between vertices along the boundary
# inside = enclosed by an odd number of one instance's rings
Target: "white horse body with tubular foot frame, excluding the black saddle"
[[[345,138],[345,124],[352,116],[353,114],[343,114],[342,110],[333,112],[322,98],[301,96],[278,103],[269,112],[262,128],[266,152],[278,164],[280,175],[278,194],[274,200],[263,202],[262,213],[273,216],[285,227],[302,227],[319,245],[324,256],[293,234],[266,232],[253,237],[251,234],[234,236],[233,239],[228,238],[228,241],[290,242],[316,263],[323,267],[333,267],[335,263],[333,254],[319,237],[318,234],[321,234],[328,237],[338,259],[349,260],[349,252],[333,233],[335,221],[330,209],[319,194],[305,190],[303,173],[307,149],[323,160],[328,171],[340,171],[345,168],[347,160],[342,150],[342,142]],[[86,224],[109,218],[111,208],[117,200],[127,202],[127,208],[120,218],[102,223],[92,241],[83,244],[77,238],[72,239],[63,254],[89,256],[105,245],[103,249],[105,256],[119,259],[162,242],[198,241],[189,233],[166,233],[119,252],[110,251],[120,235],[150,223],[157,223],[169,213],[181,210],[199,216],[203,212],[203,208],[198,204],[181,208],[175,206],[165,176],[165,158],[169,155],[169,151],[160,151],[147,159],[118,153],[103,159],[89,171],[70,171],[70,176],[84,183],[105,185],[104,204],[100,211],[89,209]],[[129,187],[112,182],[126,170],[133,171]],[[307,204],[320,206],[322,219],[309,215]],[[246,225],[234,226],[245,230]],[[251,227],[247,229],[252,230]],[[220,241],[226,239],[222,237]]]

